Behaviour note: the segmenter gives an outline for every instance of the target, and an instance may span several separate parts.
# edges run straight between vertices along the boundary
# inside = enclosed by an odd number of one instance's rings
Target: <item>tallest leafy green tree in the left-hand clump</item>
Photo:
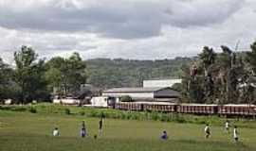
[[[45,61],[31,47],[22,46],[14,53],[16,64],[14,80],[20,89],[20,102],[28,103],[33,99],[46,99]]]

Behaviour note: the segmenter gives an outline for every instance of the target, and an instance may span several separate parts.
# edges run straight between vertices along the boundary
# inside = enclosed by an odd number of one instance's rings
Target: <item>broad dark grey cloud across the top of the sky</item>
[[[0,25],[10,29],[97,33],[103,37],[139,39],[159,36],[162,25],[189,27],[224,22],[244,0],[162,2],[99,1],[79,8],[72,1],[48,2],[35,8],[16,10],[0,6]],[[62,2],[62,1],[61,1]],[[26,3],[26,2],[25,2]],[[83,1],[86,3],[86,1]]]

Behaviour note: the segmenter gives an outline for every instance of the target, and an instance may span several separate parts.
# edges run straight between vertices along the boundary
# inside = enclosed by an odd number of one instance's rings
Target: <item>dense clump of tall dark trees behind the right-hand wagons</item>
[[[183,66],[180,90],[192,103],[256,103],[256,42],[251,51],[235,52],[221,46],[216,53],[205,46],[191,66]]]

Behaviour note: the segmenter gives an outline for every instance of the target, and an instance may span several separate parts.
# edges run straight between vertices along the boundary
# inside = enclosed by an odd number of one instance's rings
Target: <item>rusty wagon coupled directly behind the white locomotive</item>
[[[123,110],[143,110],[143,105],[134,102],[119,102],[116,104],[116,109]]]

